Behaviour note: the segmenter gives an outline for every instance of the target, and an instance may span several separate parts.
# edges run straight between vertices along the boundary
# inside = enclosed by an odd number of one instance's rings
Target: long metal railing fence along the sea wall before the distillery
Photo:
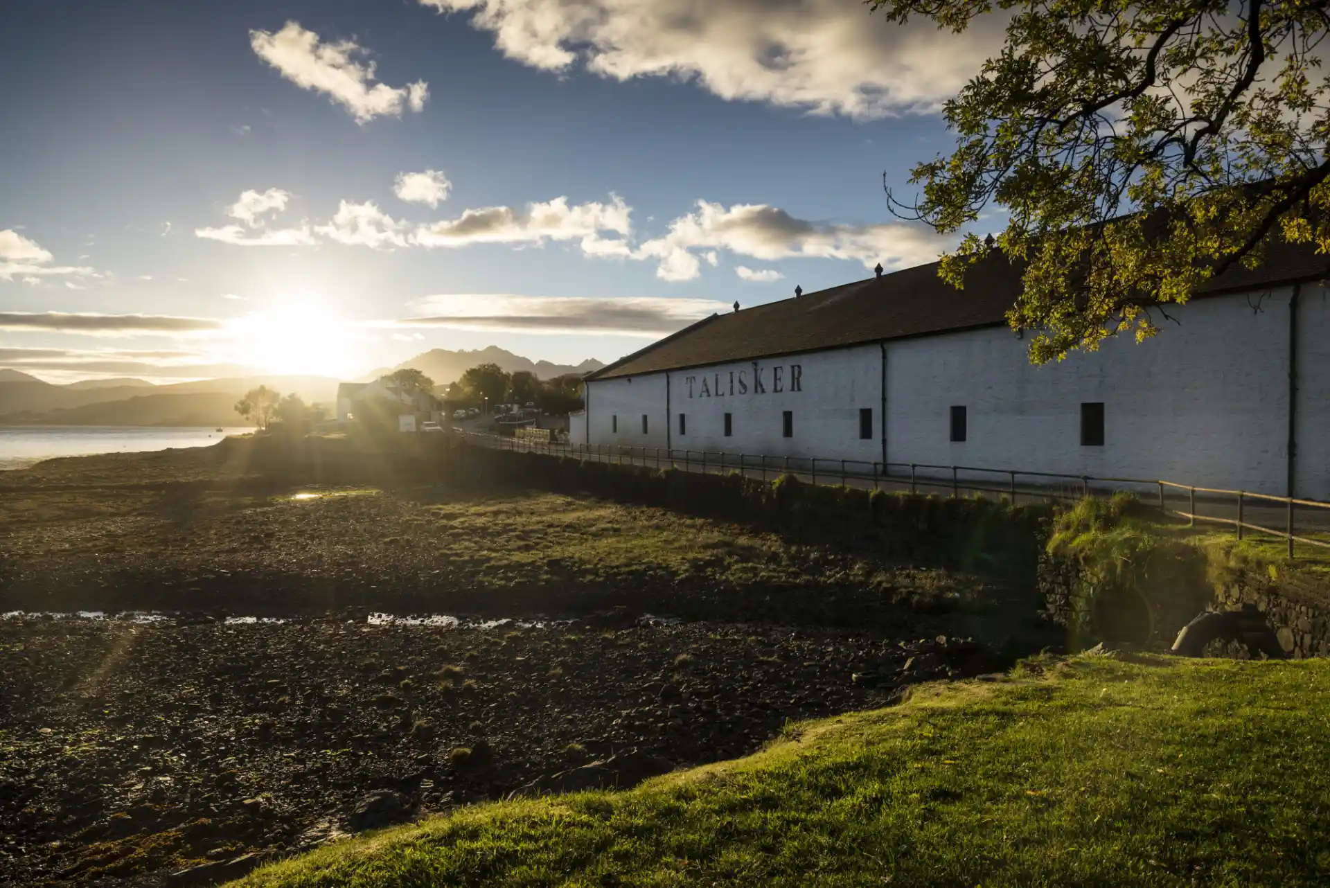
[[[1031,469],[994,469],[976,465],[940,465],[930,463],[874,463],[813,456],[767,456],[763,453],[730,453],[722,451],[670,449],[661,447],[626,447],[616,444],[571,444],[559,441],[520,440],[483,432],[464,432],[467,443],[491,449],[569,456],[580,460],[638,465],[654,469],[681,469],[685,472],[726,473],[739,472],[746,477],[773,480],[793,475],[810,484],[859,487],[871,489],[908,489],[910,493],[942,493],[959,497],[964,493],[994,493],[1045,501],[1076,501],[1087,496],[1111,495],[1129,491],[1142,499],[1153,499],[1158,509],[1188,520],[1225,524],[1236,528],[1242,540],[1246,530],[1256,530],[1287,540],[1291,558],[1294,544],[1330,549],[1330,540],[1298,536],[1298,528],[1310,532],[1330,532],[1330,502],[1303,500],[1252,491],[1206,488],[1157,479],[1103,477],[1092,475],[1064,475]],[[1216,506],[1209,512],[1201,505]],[[1270,506],[1266,504],[1277,504]],[[1298,516],[1298,509],[1310,514]],[[1214,510],[1236,512],[1216,514]],[[1254,513],[1254,516],[1253,516]],[[1269,516],[1269,517],[1267,517]],[[1282,517],[1283,529],[1270,526],[1270,517]],[[1249,520],[1253,518],[1254,520]],[[1261,521],[1260,524],[1257,521]]]

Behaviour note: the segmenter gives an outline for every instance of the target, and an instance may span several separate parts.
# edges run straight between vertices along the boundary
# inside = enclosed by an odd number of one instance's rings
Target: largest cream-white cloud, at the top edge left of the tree
[[[507,57],[614,80],[696,80],[726,100],[817,114],[936,110],[1001,45],[984,16],[954,35],[892,25],[862,0],[419,0],[466,12]]]

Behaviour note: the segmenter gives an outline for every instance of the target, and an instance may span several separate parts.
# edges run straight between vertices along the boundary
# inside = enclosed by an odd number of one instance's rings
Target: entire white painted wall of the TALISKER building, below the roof
[[[1201,299],[1169,314],[1162,332],[1035,367],[1027,340],[988,328],[887,343],[887,460],[1165,479],[1283,495],[1287,475],[1291,287]],[[1298,495],[1330,500],[1330,294],[1303,286],[1299,306]],[[670,371],[674,449],[880,460],[879,346]],[[790,391],[793,364],[801,387]],[[785,391],[771,391],[782,371]],[[739,393],[739,372],[749,380]],[[730,393],[730,374],[735,389]],[[588,441],[665,447],[666,374],[588,384]],[[692,396],[689,392],[692,382]],[[706,393],[702,380],[708,382]],[[721,393],[714,389],[720,383]],[[1103,401],[1103,447],[1080,444],[1080,405]],[[967,408],[967,440],[950,441],[950,408]],[[862,407],[874,437],[859,439]],[[781,412],[794,436],[781,436]],[[641,413],[650,433],[641,435]],[[724,413],[733,415],[725,437]],[[678,413],[688,417],[678,435]],[[618,415],[618,433],[610,416]]]

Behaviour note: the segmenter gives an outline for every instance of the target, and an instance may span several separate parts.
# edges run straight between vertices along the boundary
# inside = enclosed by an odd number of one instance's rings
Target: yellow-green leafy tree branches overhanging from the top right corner
[[[870,0],[954,32],[1009,16],[1005,45],[946,105],[958,141],[914,169],[898,213],[964,237],[960,286],[1000,249],[1024,267],[1013,328],[1035,362],[1158,332],[1172,304],[1283,239],[1330,249],[1330,27],[1321,1]]]

